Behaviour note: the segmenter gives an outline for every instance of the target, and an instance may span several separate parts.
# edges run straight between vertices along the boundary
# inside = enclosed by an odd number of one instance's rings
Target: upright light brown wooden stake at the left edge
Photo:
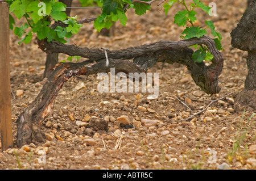
[[[2,150],[13,146],[11,123],[9,8],[0,2],[0,128]]]

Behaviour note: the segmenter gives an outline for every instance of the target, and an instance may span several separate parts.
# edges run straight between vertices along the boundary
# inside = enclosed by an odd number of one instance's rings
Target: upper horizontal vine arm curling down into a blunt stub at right
[[[205,66],[204,63],[196,63],[193,61],[191,57],[193,50],[188,50],[188,47],[195,44],[205,44],[208,46],[210,53],[212,53],[214,57],[210,66]],[[39,40],[38,45],[39,48],[46,53],[64,53],[69,56],[81,56],[88,58],[90,62],[98,62],[105,59],[105,53],[101,49],[78,47],[76,45],[62,44],[56,41],[47,42],[46,40]],[[176,52],[172,51],[174,49]],[[184,54],[184,49],[186,49],[185,52],[189,52],[189,56]],[[170,51],[171,54],[167,53]],[[108,57],[112,59],[136,60],[135,62],[145,69],[158,61],[168,62],[170,64],[174,62],[184,64],[188,67],[196,85],[201,87],[203,91],[208,94],[216,94],[220,92],[218,76],[222,71],[224,57],[221,52],[218,52],[213,39],[208,36],[181,41],[162,40],[152,44],[141,45],[139,47],[107,50],[107,53]],[[179,60],[174,60],[171,55],[175,55],[175,57],[183,57],[183,61],[179,62]]]

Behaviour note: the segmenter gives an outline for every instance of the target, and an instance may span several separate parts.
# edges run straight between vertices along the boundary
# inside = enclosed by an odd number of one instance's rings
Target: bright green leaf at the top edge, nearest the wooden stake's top
[[[30,1],[14,1],[10,5],[10,12],[13,12],[15,16],[20,19],[26,13],[27,5]]]

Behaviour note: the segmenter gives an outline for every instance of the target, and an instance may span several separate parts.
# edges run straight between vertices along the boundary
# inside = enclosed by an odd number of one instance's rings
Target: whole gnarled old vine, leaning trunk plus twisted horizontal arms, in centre
[[[193,60],[193,50],[188,47],[194,44],[208,46],[210,53],[214,56],[210,66]],[[44,134],[40,130],[40,125],[51,111],[52,103],[63,83],[76,75],[109,72],[110,68],[115,68],[117,72],[122,71],[126,74],[142,73],[156,62],[178,63],[187,66],[195,83],[208,94],[216,94],[220,91],[218,76],[221,73],[224,58],[216,49],[214,41],[207,36],[181,41],[163,40],[139,47],[107,50],[108,67],[106,67],[105,52],[100,49],[77,47],[56,41],[47,42],[46,40],[38,41],[38,45],[46,53],[65,53],[70,56],[85,57],[88,60],[80,63],[62,63],[55,66],[35,101],[20,113],[16,138],[16,145],[19,147],[31,141],[44,141]]]

